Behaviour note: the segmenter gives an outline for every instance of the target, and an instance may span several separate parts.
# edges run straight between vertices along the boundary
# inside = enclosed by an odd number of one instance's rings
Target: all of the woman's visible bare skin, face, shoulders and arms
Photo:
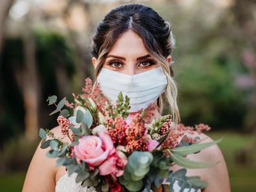
[[[148,55],[149,53],[144,47],[142,39],[134,34],[132,31],[125,32],[116,43],[111,48],[108,55],[114,55],[120,58],[109,57],[106,59],[103,67],[111,69],[117,72],[122,72],[124,74],[134,75],[140,72],[145,72],[147,70],[155,69],[159,67],[158,63],[151,65],[148,60],[153,60],[153,58],[148,57],[144,59],[138,59],[142,56]],[[110,60],[114,59],[112,63]],[[167,58],[168,63],[171,63],[171,56]],[[94,68],[96,68],[96,58],[92,58],[92,63]],[[159,118],[160,114],[155,111],[155,118]],[[52,132],[57,138],[63,138],[64,142],[69,142],[69,139],[61,134],[61,127],[55,127]],[[191,136],[187,133],[188,136]],[[206,134],[198,134],[195,132],[193,137],[199,136],[204,139],[203,142],[211,142],[212,139]],[[181,138],[180,138],[181,139]],[[36,152],[30,162],[28,167],[27,176],[23,185],[23,192],[28,191],[55,191],[56,182],[59,178],[65,175],[65,167],[55,167],[56,159],[48,158],[45,153],[48,149],[41,149],[40,144],[38,145]],[[202,180],[208,182],[208,187],[203,189],[203,192],[229,192],[229,176],[228,169],[224,160],[224,157],[218,147],[218,145],[213,145],[200,151],[196,155],[188,155],[187,158],[190,160],[195,160],[199,162],[219,162],[219,164],[209,167],[207,169],[187,169],[187,176],[197,175],[200,176]],[[177,165],[171,167],[173,171],[180,169]],[[153,191],[164,191],[162,187],[157,189],[156,187]]]

